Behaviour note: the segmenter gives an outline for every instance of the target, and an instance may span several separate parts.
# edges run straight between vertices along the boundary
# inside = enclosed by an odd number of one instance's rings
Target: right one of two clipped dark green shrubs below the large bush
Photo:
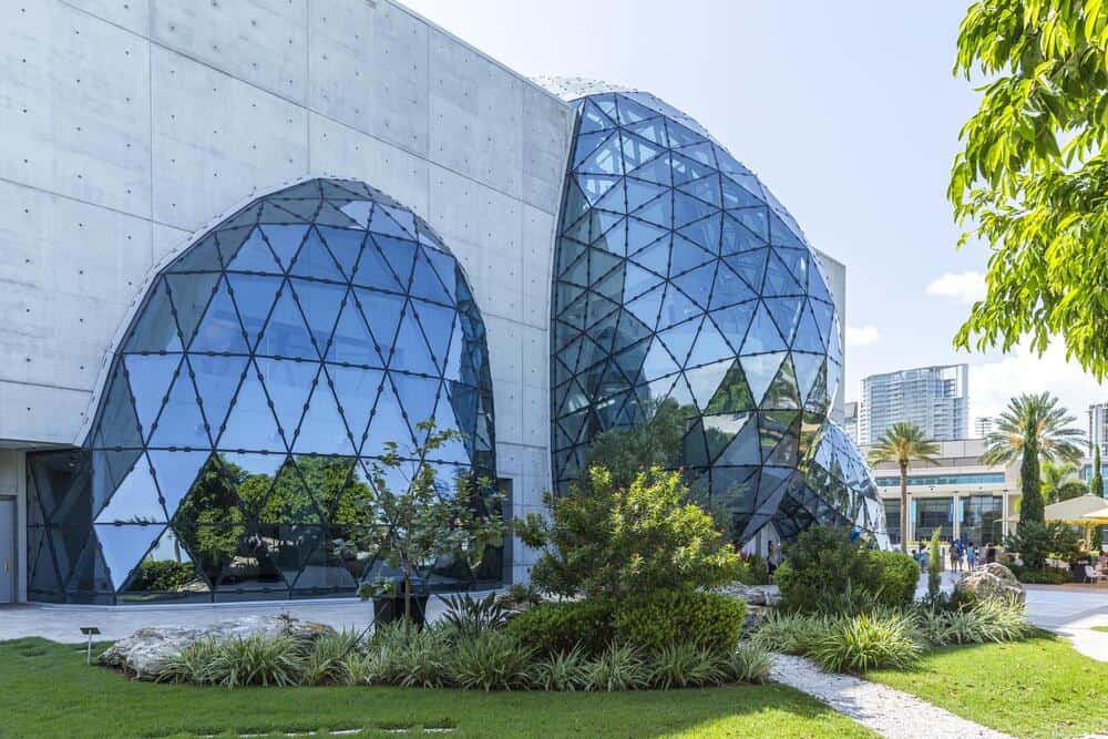
[[[638,595],[616,609],[615,638],[650,653],[678,642],[726,651],[739,640],[746,607],[738,598],[698,591]]]

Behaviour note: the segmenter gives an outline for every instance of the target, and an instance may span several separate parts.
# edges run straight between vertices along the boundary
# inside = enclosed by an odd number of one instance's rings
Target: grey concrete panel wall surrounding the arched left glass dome
[[[257,189],[356,177],[468,270],[500,472],[517,513],[537,506],[567,105],[389,0],[40,0],[4,16],[0,440],[82,441],[112,338],[189,234]]]

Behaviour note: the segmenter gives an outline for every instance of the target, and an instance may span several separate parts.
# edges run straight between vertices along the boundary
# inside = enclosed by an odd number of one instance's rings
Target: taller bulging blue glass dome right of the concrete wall
[[[869,470],[828,420],[842,347],[796,220],[654,95],[542,80],[577,125],[554,257],[553,465],[562,492],[603,431],[686,418],[694,497],[747,542],[813,522],[883,532]]]

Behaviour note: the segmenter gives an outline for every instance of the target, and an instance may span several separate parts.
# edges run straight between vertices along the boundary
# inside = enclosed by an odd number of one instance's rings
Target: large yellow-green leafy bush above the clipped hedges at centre
[[[605,468],[589,468],[573,495],[546,495],[548,520],[532,514],[517,522],[523,542],[543,550],[532,581],[568,597],[732,582],[738,555],[711,516],[687,497],[679,472],[652,468],[618,485]]]

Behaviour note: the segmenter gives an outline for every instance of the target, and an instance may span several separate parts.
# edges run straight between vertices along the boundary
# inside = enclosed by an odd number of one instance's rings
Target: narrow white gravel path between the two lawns
[[[1012,739],[1006,733],[958,718],[906,692],[848,675],[824,673],[803,657],[774,654],[770,677],[819,698],[840,714],[889,739]]]

